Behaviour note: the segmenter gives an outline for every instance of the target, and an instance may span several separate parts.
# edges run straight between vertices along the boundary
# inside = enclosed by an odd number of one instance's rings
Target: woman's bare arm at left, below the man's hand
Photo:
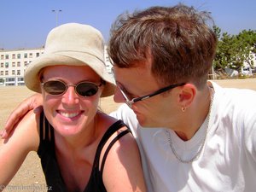
[[[39,115],[29,112],[9,134],[11,137],[0,139],[0,185],[6,186],[30,151],[37,151]]]

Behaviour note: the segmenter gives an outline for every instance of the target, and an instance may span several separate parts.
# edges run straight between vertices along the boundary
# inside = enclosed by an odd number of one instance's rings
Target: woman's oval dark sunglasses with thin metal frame
[[[79,96],[94,96],[96,92],[99,90],[99,87],[102,86],[104,82],[97,85],[88,81],[80,82],[79,84],[65,84],[60,80],[50,80],[42,83],[42,86],[45,92],[49,93],[49,95],[59,96],[64,94],[67,91],[69,86],[73,86],[74,90]]]

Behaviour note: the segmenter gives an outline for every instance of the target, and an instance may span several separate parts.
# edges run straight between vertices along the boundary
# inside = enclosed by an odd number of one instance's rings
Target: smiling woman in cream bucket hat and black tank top
[[[114,90],[103,53],[102,34],[91,26],[70,23],[49,32],[44,55],[25,74],[26,86],[42,93],[44,112],[27,115],[1,141],[0,184],[34,150],[51,191],[145,191],[129,129],[98,110],[100,97]],[[26,120],[34,118],[37,125]]]

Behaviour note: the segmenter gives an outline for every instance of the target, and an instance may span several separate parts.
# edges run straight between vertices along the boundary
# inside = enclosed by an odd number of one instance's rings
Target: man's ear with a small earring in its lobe
[[[189,108],[190,104],[194,101],[196,94],[196,87],[194,84],[184,84],[180,89],[178,95],[178,103],[184,110]]]

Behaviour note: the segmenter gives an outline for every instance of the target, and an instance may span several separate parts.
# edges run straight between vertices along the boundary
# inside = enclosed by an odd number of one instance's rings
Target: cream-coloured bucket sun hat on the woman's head
[[[26,68],[27,88],[41,92],[39,73],[49,66],[89,66],[106,81],[102,97],[113,95],[115,83],[104,61],[104,39],[96,28],[79,23],[55,27],[48,34],[44,54]]]

